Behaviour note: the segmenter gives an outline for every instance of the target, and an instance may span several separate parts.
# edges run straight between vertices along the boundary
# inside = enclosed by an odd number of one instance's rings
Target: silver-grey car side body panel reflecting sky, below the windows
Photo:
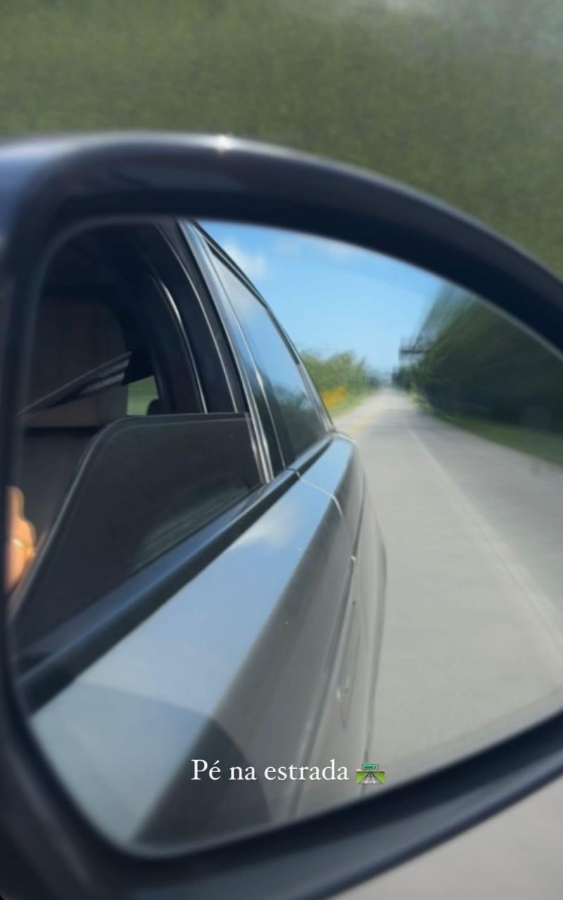
[[[174,842],[288,815],[299,781],[264,780],[264,769],[310,764],[321,724],[326,762],[335,755],[340,711],[326,719],[324,710],[351,565],[334,500],[297,481],[40,708],[41,742],[56,745],[60,778],[104,831]],[[253,765],[258,779],[252,790],[225,770],[217,782],[193,781],[195,758]]]

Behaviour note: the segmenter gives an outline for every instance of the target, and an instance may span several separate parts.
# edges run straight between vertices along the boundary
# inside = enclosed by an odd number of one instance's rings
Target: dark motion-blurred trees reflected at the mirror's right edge
[[[563,365],[458,288],[442,290],[395,382],[445,415],[563,430]]]

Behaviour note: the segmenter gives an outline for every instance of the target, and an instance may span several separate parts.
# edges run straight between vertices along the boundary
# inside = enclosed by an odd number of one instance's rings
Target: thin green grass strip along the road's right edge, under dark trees
[[[437,415],[434,413],[434,415]],[[478,437],[485,437],[496,444],[512,447],[521,453],[536,456],[548,463],[563,466],[563,434],[552,431],[538,431],[518,425],[491,422],[487,419],[473,419],[469,416],[438,416],[457,428],[464,428]]]

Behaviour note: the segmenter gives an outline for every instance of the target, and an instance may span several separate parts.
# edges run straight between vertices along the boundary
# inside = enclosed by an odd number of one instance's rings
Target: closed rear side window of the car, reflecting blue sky
[[[323,437],[325,428],[299,371],[299,362],[272,315],[219,257],[214,255],[214,259],[263,378],[285,462],[289,464]]]

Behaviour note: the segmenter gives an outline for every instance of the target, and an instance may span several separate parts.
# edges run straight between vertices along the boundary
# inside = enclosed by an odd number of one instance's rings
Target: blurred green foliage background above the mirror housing
[[[2,0],[4,135],[235,133],[403,179],[563,272],[561,0]]]

